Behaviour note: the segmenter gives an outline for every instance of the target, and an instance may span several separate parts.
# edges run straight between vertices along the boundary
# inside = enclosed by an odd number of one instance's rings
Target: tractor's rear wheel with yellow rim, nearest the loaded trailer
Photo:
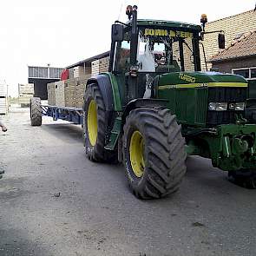
[[[108,129],[108,115],[97,84],[92,83],[87,86],[83,109],[84,146],[89,160],[116,162],[116,152],[104,148],[105,135]]]

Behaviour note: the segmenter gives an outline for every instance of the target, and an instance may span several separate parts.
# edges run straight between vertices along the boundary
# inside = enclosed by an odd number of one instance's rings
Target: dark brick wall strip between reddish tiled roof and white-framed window
[[[256,67],[256,56],[213,63],[213,69],[219,69],[221,73],[232,73],[232,69],[250,67]]]

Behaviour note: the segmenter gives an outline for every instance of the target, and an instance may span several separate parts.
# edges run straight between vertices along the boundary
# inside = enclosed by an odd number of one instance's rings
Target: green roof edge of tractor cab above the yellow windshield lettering
[[[173,21],[161,21],[161,20],[143,20],[138,19],[137,21],[138,25],[141,26],[157,26],[157,27],[163,27],[163,28],[175,28],[175,29],[183,29],[183,30],[195,30],[200,32],[201,27],[200,25],[196,24],[190,24],[190,23],[179,23],[179,22],[173,22]]]

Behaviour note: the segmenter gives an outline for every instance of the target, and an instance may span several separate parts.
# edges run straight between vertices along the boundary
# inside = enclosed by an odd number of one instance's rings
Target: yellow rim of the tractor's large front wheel
[[[144,173],[144,148],[143,136],[139,131],[135,131],[131,137],[129,154],[133,172],[138,178]]]

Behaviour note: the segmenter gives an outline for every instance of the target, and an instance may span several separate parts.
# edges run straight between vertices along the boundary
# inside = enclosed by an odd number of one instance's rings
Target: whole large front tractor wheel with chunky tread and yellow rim
[[[136,197],[174,193],[186,173],[185,140],[175,115],[163,108],[137,108],[126,119],[123,159]]]

